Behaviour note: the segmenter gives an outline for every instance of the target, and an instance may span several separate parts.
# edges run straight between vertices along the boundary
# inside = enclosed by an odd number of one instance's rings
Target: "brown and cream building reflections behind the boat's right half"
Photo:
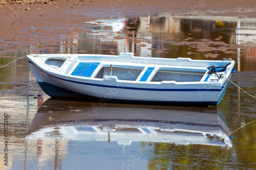
[[[223,43],[220,45],[223,46],[223,48],[217,51],[206,51],[205,53],[219,54],[221,57],[220,59],[232,57],[236,60],[236,58],[238,58],[238,70],[240,70],[240,47],[242,46],[242,51],[244,51],[242,53],[242,57],[245,58],[246,63],[244,64],[247,65],[244,65],[243,67],[248,68],[249,64],[250,70],[255,70],[255,30],[256,22],[253,18],[240,19],[237,17],[209,16],[182,17],[172,16],[169,14],[159,15],[157,17],[140,17],[140,22],[138,22],[137,38],[152,39],[154,44],[150,44],[149,47],[139,46],[137,47],[136,53],[137,56],[147,55],[154,57],[166,57],[167,55],[173,57],[191,57],[186,53],[193,51],[193,46],[186,44],[185,42],[196,42],[208,39],[211,41],[222,41]],[[173,41],[166,42],[166,38],[172,38]],[[143,43],[144,42],[140,44]],[[137,46],[140,44],[137,44]],[[209,45],[209,47],[215,46]],[[153,50],[149,50],[148,48]],[[156,52],[157,50],[161,50],[163,52],[160,51],[160,53],[158,53]],[[164,52],[168,52],[168,54],[164,55]],[[205,54],[201,54],[197,50],[195,52],[197,55]],[[234,55],[237,52],[239,52],[238,57]]]

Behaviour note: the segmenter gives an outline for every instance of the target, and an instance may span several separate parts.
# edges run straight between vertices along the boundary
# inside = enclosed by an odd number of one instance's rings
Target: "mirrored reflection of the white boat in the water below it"
[[[166,106],[146,107],[48,100],[36,113],[27,139],[51,140],[51,134],[55,134],[66,140],[125,145],[144,141],[232,147],[225,117],[216,108],[206,113],[203,109],[188,112]]]

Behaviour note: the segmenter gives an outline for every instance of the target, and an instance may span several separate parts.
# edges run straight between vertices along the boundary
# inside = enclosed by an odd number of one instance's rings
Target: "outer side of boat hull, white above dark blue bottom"
[[[39,70],[31,64],[32,70],[37,72],[35,77],[38,84],[48,95],[53,98],[74,98],[83,100],[99,100],[102,103],[142,103],[156,105],[196,105],[196,106],[217,106],[226,91],[225,87],[216,89],[155,89],[135,88],[127,86],[110,86],[79,82],[51,76]],[[36,71],[37,70],[37,71]],[[40,73],[39,73],[40,72]],[[40,75],[40,76],[36,76]],[[45,81],[41,79],[44,78]],[[53,83],[51,83],[53,82]],[[105,87],[104,87],[105,86]],[[197,96],[197,98],[195,98]]]

